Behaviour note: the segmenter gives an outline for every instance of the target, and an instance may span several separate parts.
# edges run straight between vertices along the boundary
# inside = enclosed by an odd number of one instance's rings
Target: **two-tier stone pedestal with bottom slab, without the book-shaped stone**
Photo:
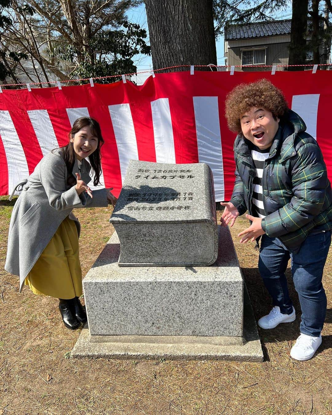
[[[71,356],[262,361],[232,238],[218,231],[206,267],[119,267],[113,234],[83,280],[89,332]]]

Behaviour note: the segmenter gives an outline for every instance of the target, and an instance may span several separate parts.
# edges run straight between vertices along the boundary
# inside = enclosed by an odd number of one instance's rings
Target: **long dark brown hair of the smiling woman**
[[[76,156],[75,156],[73,143],[70,141],[70,139],[73,138],[74,135],[78,131],[80,131],[80,129],[82,129],[83,127],[87,127],[87,126],[90,127],[92,134],[98,138],[97,148],[88,157],[89,157],[89,161],[91,164],[91,168],[95,173],[95,177],[93,178],[93,185],[97,186],[98,184],[100,184],[100,180],[99,180],[100,174],[101,174],[100,147],[104,144],[104,139],[101,135],[100,125],[98,121],[90,117],[81,117],[81,118],[78,118],[73,123],[73,127],[71,128],[68,134],[69,143],[65,147],[62,147],[63,148],[63,159],[66,163],[66,167],[68,171],[67,184],[69,186],[73,186],[74,184],[76,184],[76,177],[73,176],[73,166],[75,164]]]

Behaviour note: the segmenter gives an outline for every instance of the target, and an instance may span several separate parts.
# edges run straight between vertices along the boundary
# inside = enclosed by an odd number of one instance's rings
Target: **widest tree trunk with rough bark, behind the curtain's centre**
[[[217,64],[212,0],[145,0],[152,63]]]

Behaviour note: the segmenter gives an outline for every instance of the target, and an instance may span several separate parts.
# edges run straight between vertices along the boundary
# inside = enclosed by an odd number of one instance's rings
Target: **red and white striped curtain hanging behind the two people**
[[[100,123],[103,181],[118,195],[129,159],[207,163],[216,201],[229,200],[234,183],[233,143],[225,98],[235,85],[268,78],[317,139],[332,179],[332,72],[161,73],[144,85],[123,81],[0,93],[0,195],[29,176],[41,157],[66,145],[76,118]]]

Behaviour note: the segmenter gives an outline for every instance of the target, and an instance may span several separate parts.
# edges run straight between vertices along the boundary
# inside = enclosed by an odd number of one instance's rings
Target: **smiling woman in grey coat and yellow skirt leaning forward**
[[[100,126],[89,117],[78,118],[69,143],[44,156],[29,178],[17,186],[17,199],[8,234],[5,270],[20,276],[20,291],[28,285],[37,295],[59,298],[63,323],[76,329],[86,322],[82,274],[78,258],[78,207],[115,205],[111,189],[92,190],[100,183]],[[85,160],[89,158],[90,164]]]

